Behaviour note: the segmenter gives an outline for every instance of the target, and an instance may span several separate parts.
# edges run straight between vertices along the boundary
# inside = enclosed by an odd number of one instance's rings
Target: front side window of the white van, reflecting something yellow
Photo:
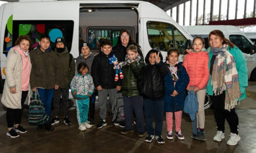
[[[187,48],[186,38],[172,24],[149,21],[147,32],[151,48],[158,47],[166,52],[176,48],[180,53]]]

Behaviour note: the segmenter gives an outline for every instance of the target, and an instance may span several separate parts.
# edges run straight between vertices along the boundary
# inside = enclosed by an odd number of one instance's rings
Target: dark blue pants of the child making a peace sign
[[[163,128],[163,110],[165,107],[164,97],[158,99],[144,99],[144,110],[146,129],[149,135],[162,135]],[[155,130],[153,128],[153,119],[155,116]]]

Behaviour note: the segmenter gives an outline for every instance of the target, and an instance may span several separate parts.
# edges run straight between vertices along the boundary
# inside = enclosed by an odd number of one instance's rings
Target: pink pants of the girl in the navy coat
[[[180,131],[180,126],[182,125],[182,111],[176,111],[175,114],[175,130],[176,132]],[[167,124],[167,132],[172,131],[172,117],[173,112],[166,112],[166,124]]]

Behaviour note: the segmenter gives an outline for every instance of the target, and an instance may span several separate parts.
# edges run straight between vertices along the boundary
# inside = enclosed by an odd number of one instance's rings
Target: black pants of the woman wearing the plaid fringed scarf
[[[235,108],[230,111],[225,110],[225,92],[220,95],[211,96],[211,101],[214,104],[214,116],[217,124],[217,129],[225,132],[225,119],[229,123],[230,132],[238,134],[238,116]]]

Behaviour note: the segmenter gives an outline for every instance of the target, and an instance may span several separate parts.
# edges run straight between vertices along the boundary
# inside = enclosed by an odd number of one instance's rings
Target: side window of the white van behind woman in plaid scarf
[[[250,54],[251,43],[243,35],[230,35],[229,40],[243,53]]]

